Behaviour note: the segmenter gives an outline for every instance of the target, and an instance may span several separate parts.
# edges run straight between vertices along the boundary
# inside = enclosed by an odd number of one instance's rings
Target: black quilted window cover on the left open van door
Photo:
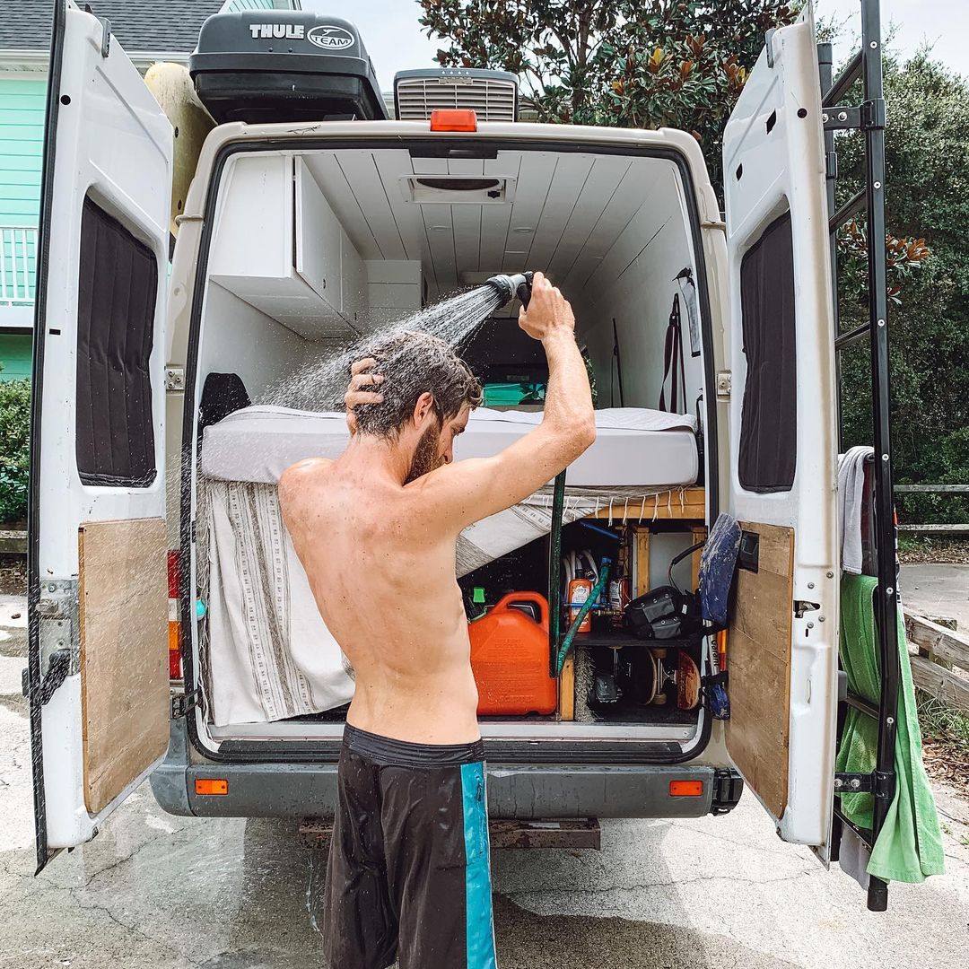
[[[150,485],[156,475],[148,359],[158,264],[90,199],[80,221],[78,474],[85,485]]]

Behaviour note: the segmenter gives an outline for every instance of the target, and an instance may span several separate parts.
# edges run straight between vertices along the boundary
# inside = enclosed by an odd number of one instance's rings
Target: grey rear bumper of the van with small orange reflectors
[[[331,818],[335,764],[189,764],[184,731],[151,776],[170,814],[197,817]],[[180,734],[180,736],[179,736]],[[226,795],[197,795],[196,780],[224,778]],[[488,764],[488,813],[522,821],[543,818],[696,818],[723,814],[742,791],[735,771],[713,766],[561,766]],[[703,793],[673,797],[670,782],[700,781]]]

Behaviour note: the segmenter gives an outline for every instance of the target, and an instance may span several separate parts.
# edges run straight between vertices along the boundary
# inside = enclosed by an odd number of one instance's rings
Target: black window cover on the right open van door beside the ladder
[[[772,222],[740,264],[747,380],[740,418],[740,485],[790,491],[797,466],[797,351],[791,215]]]

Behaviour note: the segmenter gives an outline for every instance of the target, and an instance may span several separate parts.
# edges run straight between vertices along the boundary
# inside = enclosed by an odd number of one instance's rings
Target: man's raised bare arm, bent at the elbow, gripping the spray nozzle
[[[576,320],[568,300],[535,273],[528,310],[520,326],[540,340],[548,360],[542,422],[493,457],[457,461],[410,487],[422,488],[427,507],[439,509],[458,528],[494,515],[537,491],[567,468],[595,440],[596,422],[585,361],[576,344]]]

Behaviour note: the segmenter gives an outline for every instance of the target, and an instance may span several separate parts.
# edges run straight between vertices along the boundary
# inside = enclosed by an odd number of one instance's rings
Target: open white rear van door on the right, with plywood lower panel
[[[729,632],[737,769],[787,841],[827,860],[838,567],[825,150],[811,5],[772,31],[724,136],[730,511],[744,531]]]

